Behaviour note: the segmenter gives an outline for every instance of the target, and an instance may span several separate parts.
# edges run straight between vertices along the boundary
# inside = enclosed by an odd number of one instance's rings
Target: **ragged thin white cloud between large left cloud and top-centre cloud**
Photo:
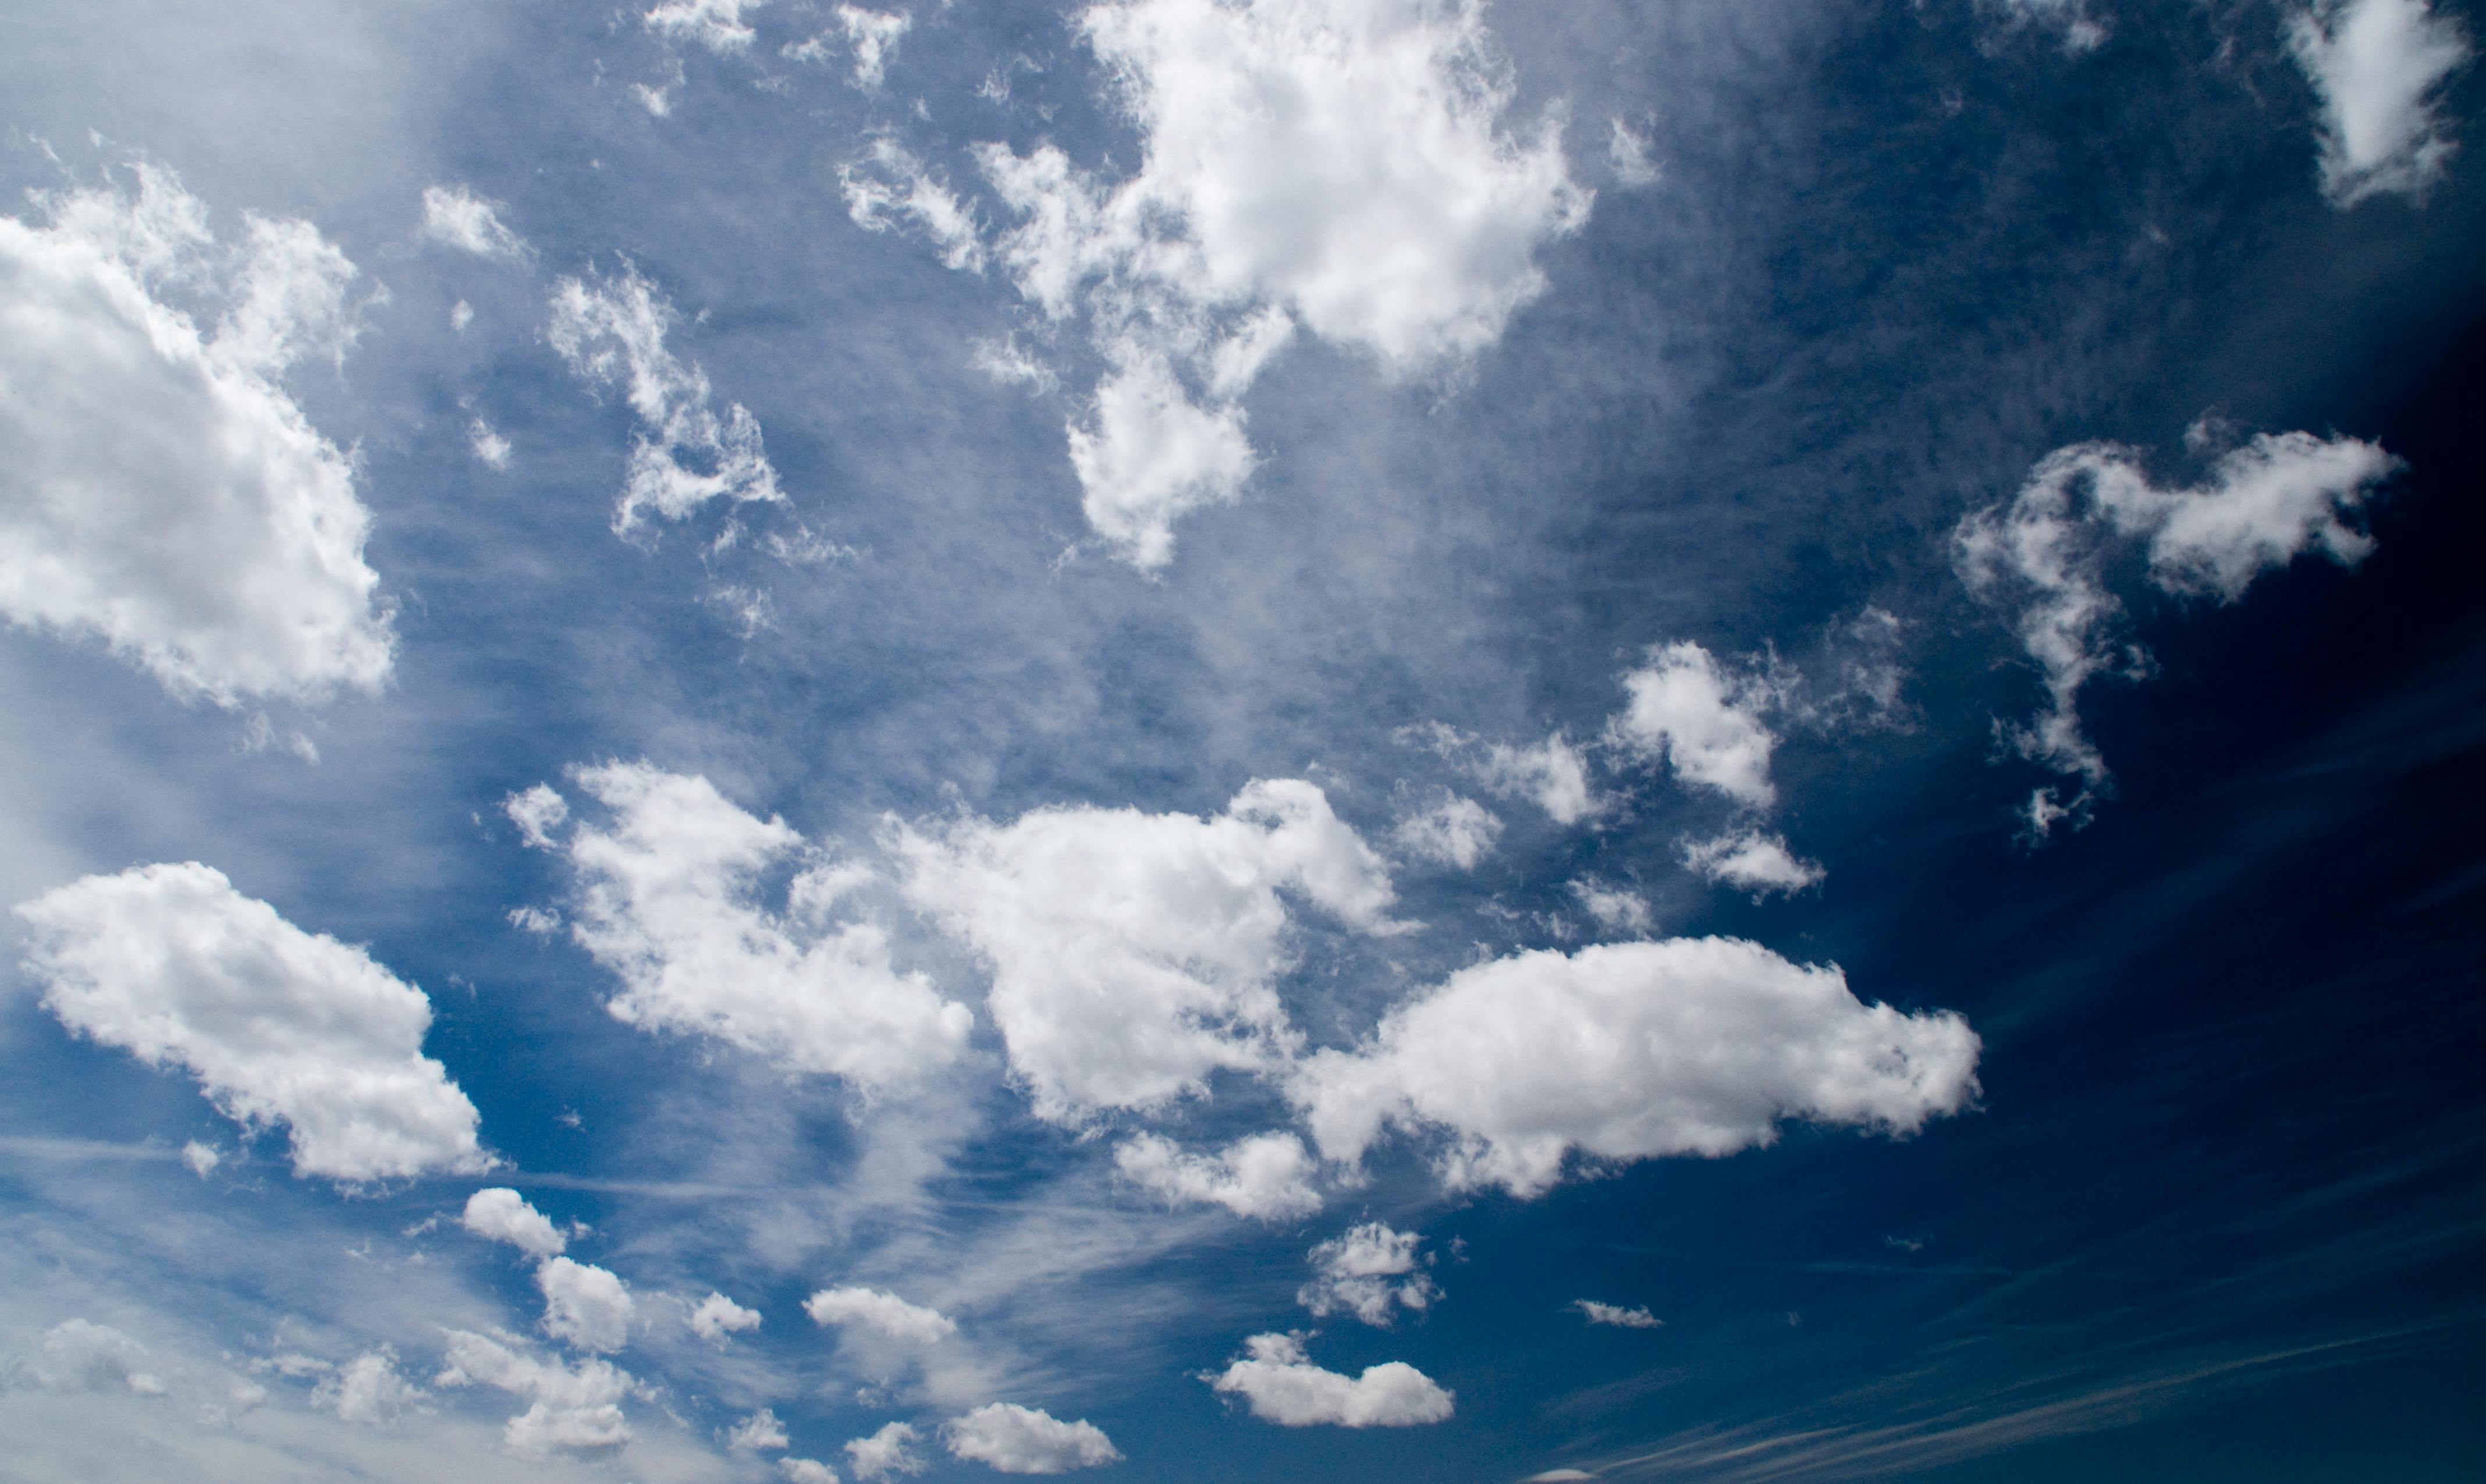
[[[622,263],[619,278],[562,278],[552,291],[544,336],[584,380],[626,383],[641,433],[631,445],[629,477],[614,510],[614,529],[629,534],[649,510],[684,520],[709,500],[786,500],[776,467],[761,447],[761,425],[733,403],[723,420],[709,408],[709,373],[664,348],[674,306]],[[684,465],[711,465],[699,472]]]

